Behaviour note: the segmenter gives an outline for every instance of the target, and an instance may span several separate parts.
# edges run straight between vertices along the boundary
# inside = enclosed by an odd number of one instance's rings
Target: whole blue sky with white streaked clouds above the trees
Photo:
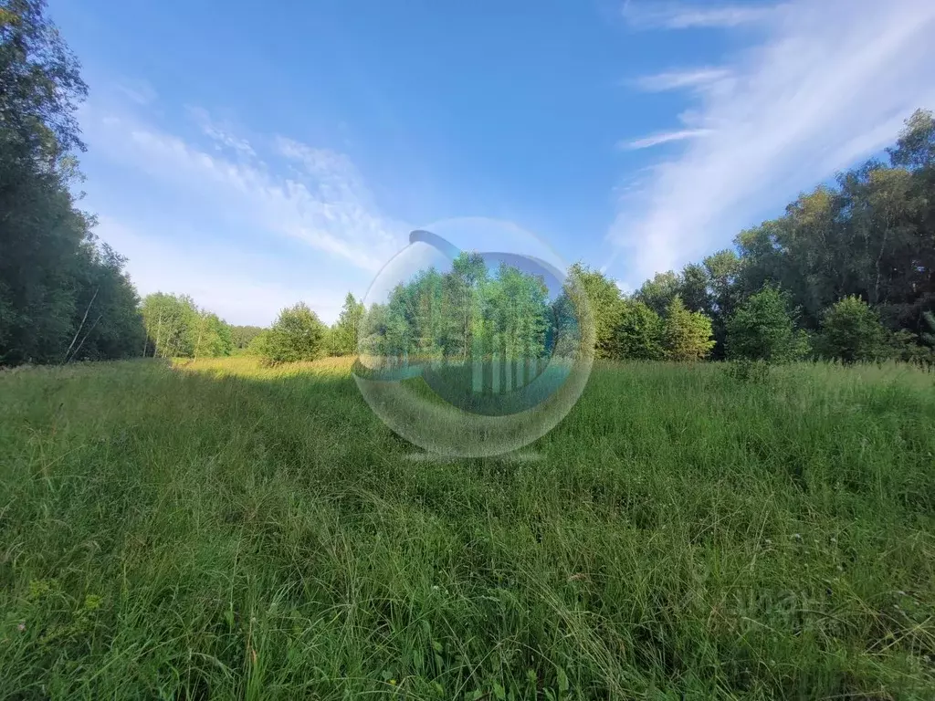
[[[98,235],[141,293],[233,323],[298,300],[331,322],[410,229],[452,217],[512,222],[637,287],[935,107],[930,0],[50,0],[50,16],[91,89]]]

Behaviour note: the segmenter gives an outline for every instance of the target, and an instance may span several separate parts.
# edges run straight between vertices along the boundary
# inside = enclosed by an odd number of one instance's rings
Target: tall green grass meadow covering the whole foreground
[[[935,698],[935,375],[596,366],[439,463],[349,372],[0,374],[0,698]]]

